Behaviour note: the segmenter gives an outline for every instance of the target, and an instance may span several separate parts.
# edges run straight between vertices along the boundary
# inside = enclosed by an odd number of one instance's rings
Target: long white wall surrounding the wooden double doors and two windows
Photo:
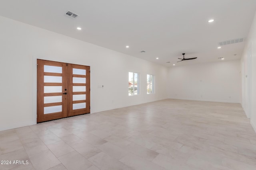
[[[0,16],[0,131],[36,123],[36,59],[91,66],[91,113],[167,98],[164,66]],[[128,96],[128,72],[140,72],[139,96]]]

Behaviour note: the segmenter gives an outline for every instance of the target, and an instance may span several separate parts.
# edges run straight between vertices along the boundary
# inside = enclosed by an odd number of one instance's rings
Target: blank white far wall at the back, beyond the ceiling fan
[[[168,98],[240,103],[240,60],[173,66]]]

